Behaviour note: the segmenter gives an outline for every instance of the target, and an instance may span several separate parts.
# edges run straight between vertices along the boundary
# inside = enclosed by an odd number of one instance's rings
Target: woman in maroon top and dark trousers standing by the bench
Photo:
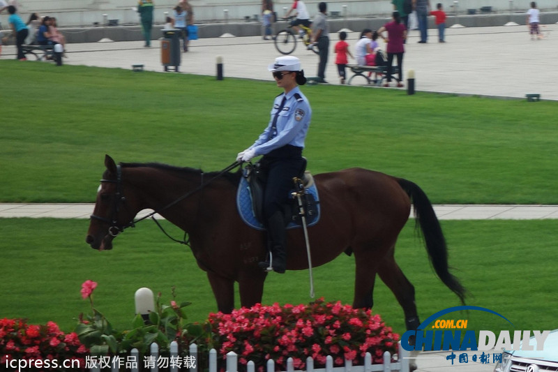
[[[397,66],[399,68],[399,79],[397,82],[398,87],[403,86],[403,54],[405,53],[405,45],[403,45],[405,38],[407,38],[407,28],[405,24],[402,24],[401,17],[399,16],[399,12],[393,12],[392,14],[393,21],[384,24],[384,26],[380,27],[378,30],[378,35],[383,38],[387,45],[387,54],[388,54],[388,66],[386,70],[387,75],[387,82],[384,84],[384,87],[389,87],[389,83],[391,82],[391,71],[393,70],[393,57],[397,58]],[[385,38],[382,33],[384,31],[388,31],[388,37]]]

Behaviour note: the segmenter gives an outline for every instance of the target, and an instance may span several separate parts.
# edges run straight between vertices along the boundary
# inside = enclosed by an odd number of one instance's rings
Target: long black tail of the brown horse
[[[423,233],[426,251],[437,276],[455,295],[458,295],[462,304],[465,304],[465,288],[458,278],[449,272],[448,249],[442,227],[438,221],[432,203],[424,191],[407,179],[398,179],[400,186],[407,192],[414,204],[414,214],[417,227],[420,226]]]

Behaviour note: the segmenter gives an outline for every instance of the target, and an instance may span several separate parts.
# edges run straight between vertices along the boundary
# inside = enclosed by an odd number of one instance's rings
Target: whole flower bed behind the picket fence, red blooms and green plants
[[[80,314],[75,332],[64,334],[54,322],[27,325],[21,319],[0,320],[1,364],[15,359],[78,359],[84,366],[86,353],[119,356],[127,355],[132,348],[144,353],[153,342],[158,343],[161,352],[168,352],[171,341],[179,343],[181,355],[188,354],[190,343],[197,343],[199,367],[203,368],[207,352],[215,348],[220,360],[225,361],[227,352],[233,351],[239,355],[241,366],[252,361],[259,371],[269,359],[276,363],[277,370],[285,371],[289,357],[295,369],[304,369],[307,357],[312,357],[315,368],[321,368],[328,355],[333,357],[334,366],[343,366],[345,360],[363,364],[367,352],[372,355],[372,363],[382,363],[386,351],[391,355],[397,352],[399,336],[384,325],[379,315],[324,299],[309,305],[257,304],[231,314],[211,313],[200,325],[186,322],[184,308],[190,303],[178,305],[173,299],[170,306],[165,306],[160,304],[159,294],[149,322],[138,314],[133,329],[118,332],[93,306],[96,286],[93,281],[82,285],[82,297],[89,299],[91,314]],[[174,298],[174,288],[172,295]]]

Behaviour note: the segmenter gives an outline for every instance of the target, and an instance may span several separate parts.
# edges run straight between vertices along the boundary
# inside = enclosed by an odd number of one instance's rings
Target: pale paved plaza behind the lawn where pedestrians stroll
[[[353,52],[359,37],[359,30],[354,31],[349,33],[348,40]],[[547,36],[545,39],[530,40],[525,26],[451,28],[446,30],[447,43],[437,43],[437,31],[430,29],[429,43],[417,44],[418,31],[411,31],[403,70],[405,73],[414,70],[418,91],[513,98],[536,93],[543,99],[557,101],[558,24],[543,25],[543,32]],[[326,80],[339,84],[333,54],[338,37],[331,36],[332,52]],[[64,63],[127,70],[131,70],[133,64],[143,64],[146,70],[163,71],[160,42],[155,40],[151,48],[142,45],[142,41],[69,44]],[[381,47],[385,50],[383,42]],[[316,75],[318,58],[315,54],[303,50],[299,44],[294,55],[301,59],[307,76]],[[225,78],[271,81],[267,66],[277,56],[273,42],[259,36],[203,38],[191,42],[190,52],[182,54],[179,70],[215,76],[217,57],[223,57]],[[15,47],[5,45],[1,58],[15,58]],[[405,82],[406,79],[404,76]],[[364,80],[354,84],[364,84]]]

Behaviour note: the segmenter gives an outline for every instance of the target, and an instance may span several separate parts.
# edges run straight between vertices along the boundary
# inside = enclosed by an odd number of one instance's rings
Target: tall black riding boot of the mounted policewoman
[[[273,271],[283,274],[287,268],[285,217],[280,211],[276,211],[266,222],[271,267],[273,267]],[[269,261],[259,262],[258,265],[266,269],[269,267],[269,263]]]

